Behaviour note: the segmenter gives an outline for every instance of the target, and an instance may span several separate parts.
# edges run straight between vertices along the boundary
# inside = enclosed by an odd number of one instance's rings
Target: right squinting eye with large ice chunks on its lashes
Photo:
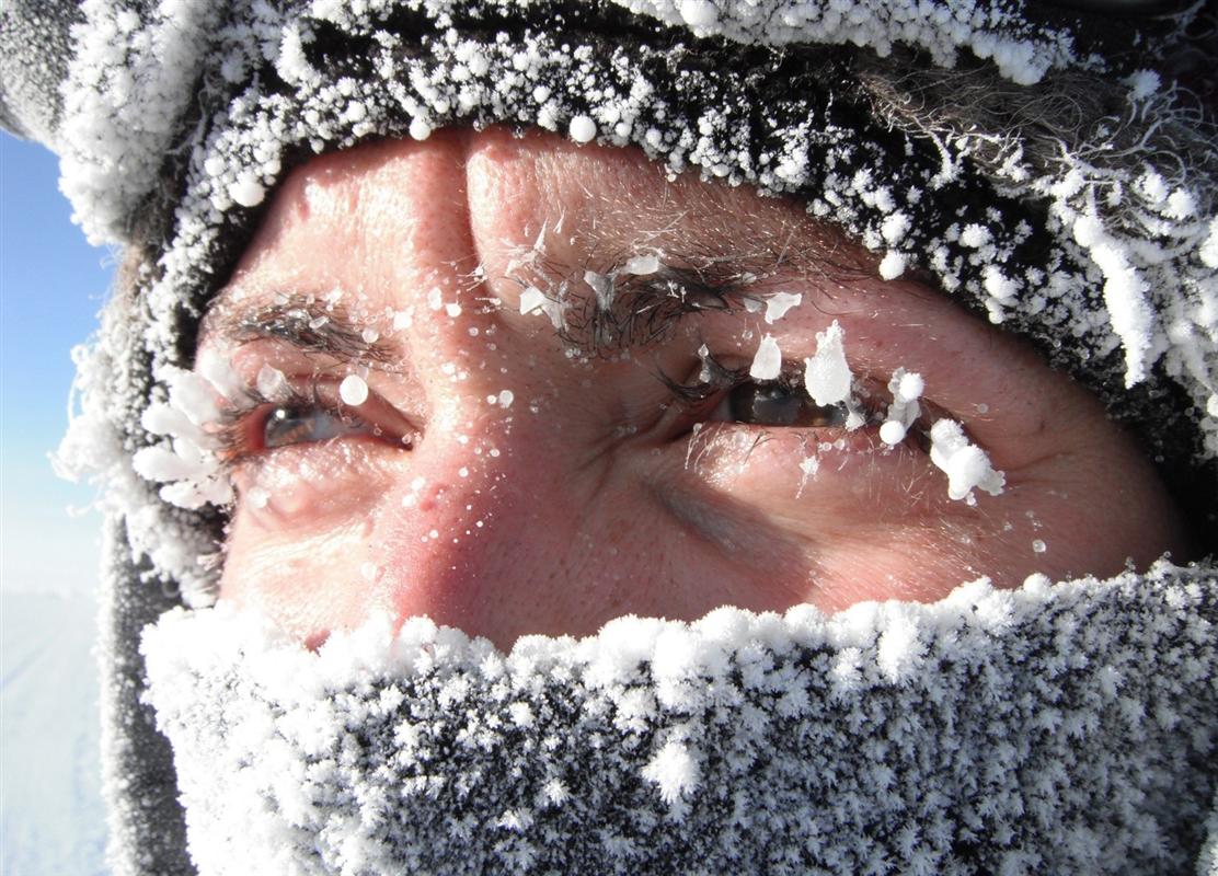
[[[920,373],[879,367],[866,344],[854,347],[854,372],[844,339],[834,322],[799,359],[766,336],[752,363],[704,344],[689,380],[664,378],[677,412],[666,434],[689,495],[772,508],[811,490],[822,507],[862,500],[918,525],[1004,492],[1005,473],[959,418],[923,396]],[[787,340],[801,348],[799,337]]]

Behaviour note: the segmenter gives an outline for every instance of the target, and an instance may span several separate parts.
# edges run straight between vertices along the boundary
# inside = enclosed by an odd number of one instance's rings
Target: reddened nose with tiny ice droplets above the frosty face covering
[[[604,497],[541,424],[503,413],[432,420],[413,451],[376,549],[395,608],[499,645],[590,632],[622,584],[588,531]]]

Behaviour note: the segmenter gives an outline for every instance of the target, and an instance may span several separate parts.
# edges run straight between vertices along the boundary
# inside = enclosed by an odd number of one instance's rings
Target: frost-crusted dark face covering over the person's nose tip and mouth
[[[201,874],[1213,872],[1218,581],[1166,564],[510,654],[145,631]]]

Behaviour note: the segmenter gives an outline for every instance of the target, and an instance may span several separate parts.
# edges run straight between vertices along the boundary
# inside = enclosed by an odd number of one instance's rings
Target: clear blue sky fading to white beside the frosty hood
[[[96,580],[93,490],[48,453],[67,425],[71,350],[88,339],[116,255],[90,247],[46,149],[0,134],[0,587],[83,592]]]

